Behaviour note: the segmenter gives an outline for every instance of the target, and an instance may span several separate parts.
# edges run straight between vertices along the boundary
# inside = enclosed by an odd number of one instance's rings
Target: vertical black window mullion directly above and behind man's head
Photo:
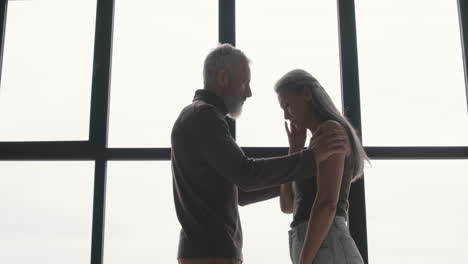
[[[236,45],[236,1],[218,1],[218,40],[219,43],[229,43]],[[229,132],[236,138],[236,122],[231,118],[226,118],[229,125]]]

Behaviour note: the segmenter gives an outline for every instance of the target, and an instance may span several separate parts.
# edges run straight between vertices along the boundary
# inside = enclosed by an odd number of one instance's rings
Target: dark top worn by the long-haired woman
[[[349,189],[353,178],[353,167],[350,162],[350,157],[351,156],[345,159],[343,178],[341,179],[340,196],[336,209],[336,215],[344,216],[346,220],[348,220]],[[312,205],[317,194],[317,179],[314,177],[294,181],[292,183],[292,189],[294,193],[294,209],[291,228],[309,221],[310,210],[312,209]]]

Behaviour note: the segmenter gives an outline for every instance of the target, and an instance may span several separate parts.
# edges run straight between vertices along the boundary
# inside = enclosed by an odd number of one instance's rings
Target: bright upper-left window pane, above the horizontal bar
[[[0,141],[87,140],[96,0],[10,1]]]

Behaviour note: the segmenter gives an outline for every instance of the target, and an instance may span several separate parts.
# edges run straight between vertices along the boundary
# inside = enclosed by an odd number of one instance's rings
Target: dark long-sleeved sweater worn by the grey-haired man
[[[172,130],[174,202],[182,226],[179,259],[242,261],[238,204],[276,197],[280,184],[316,175],[311,150],[247,158],[229,134],[226,114],[220,97],[198,90]]]

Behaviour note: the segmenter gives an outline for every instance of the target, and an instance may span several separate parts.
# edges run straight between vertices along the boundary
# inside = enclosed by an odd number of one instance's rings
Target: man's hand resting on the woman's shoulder
[[[351,152],[348,135],[343,126],[336,121],[326,121],[312,134],[309,148],[315,155],[317,163],[326,160],[333,154]]]

